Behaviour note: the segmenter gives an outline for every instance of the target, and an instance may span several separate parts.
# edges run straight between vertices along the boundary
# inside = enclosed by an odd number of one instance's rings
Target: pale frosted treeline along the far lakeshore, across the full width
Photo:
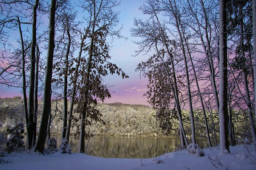
[[[75,106],[76,107],[76,106]],[[102,121],[92,121],[90,131],[93,135],[113,135],[113,136],[179,136],[179,121],[177,115],[174,119],[166,119],[168,128],[161,128],[160,124],[164,123],[157,119],[157,109],[150,106],[130,105],[122,103],[99,104],[98,110],[102,114]],[[42,113],[42,100],[39,100],[38,113]],[[61,135],[62,133],[62,115],[63,101],[52,100],[52,119],[50,125],[50,134]],[[14,127],[19,121],[25,122],[24,112],[22,109],[22,99],[0,98],[0,133],[6,133],[6,129]],[[78,117],[79,114],[74,114]],[[38,117],[40,121],[41,117]],[[188,110],[182,110],[182,119],[184,121],[184,129],[187,132],[188,139],[191,139],[190,113]],[[194,119],[196,127],[196,136],[206,139],[204,127],[204,117],[202,110],[194,110]],[[209,129],[211,134],[219,133],[218,112],[207,113]],[[162,120],[163,121],[163,120]],[[79,122],[72,124],[71,135],[75,135]],[[39,129],[39,125],[37,126]],[[245,113],[241,111],[234,112],[234,129],[236,139],[250,137],[249,119]],[[86,129],[89,130],[89,129]],[[38,130],[37,130],[38,133]],[[211,135],[212,142],[217,145],[218,135]],[[250,139],[250,138],[249,138]]]

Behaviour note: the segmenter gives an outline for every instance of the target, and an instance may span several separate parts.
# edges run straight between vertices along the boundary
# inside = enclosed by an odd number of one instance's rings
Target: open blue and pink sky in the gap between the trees
[[[140,78],[140,73],[135,72],[135,68],[141,61],[146,61],[146,55],[139,55],[132,57],[134,51],[138,47],[132,42],[136,40],[134,37],[130,37],[130,28],[133,26],[134,17],[145,18],[142,12],[138,8],[145,2],[145,0],[122,0],[120,6],[116,7],[115,10],[120,11],[120,24],[123,24],[121,34],[125,39],[114,39],[113,47],[110,51],[112,56],[111,62],[116,64],[119,68],[130,77],[122,79],[121,76],[108,75],[104,79],[105,84],[114,85],[111,87],[111,98],[106,99],[105,103],[121,102],[125,104],[148,104],[147,98],[142,97],[146,92],[146,84],[148,80],[146,78]],[[137,39],[138,40],[138,39]],[[6,86],[0,85],[0,97],[14,97],[22,96],[20,93],[21,88],[7,88]]]

